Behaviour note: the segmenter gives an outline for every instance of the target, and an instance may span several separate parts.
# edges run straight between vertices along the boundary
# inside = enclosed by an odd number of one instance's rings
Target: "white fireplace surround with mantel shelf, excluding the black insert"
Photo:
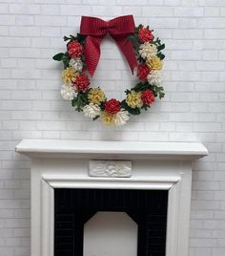
[[[166,256],[188,256],[192,162],[208,154],[201,143],[24,139],[16,151],[31,158],[31,256],[54,256],[58,188],[167,190]]]

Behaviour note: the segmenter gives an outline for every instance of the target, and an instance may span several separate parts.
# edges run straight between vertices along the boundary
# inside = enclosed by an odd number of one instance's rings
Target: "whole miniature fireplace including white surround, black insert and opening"
[[[201,143],[25,139],[16,151],[31,157],[31,256],[188,256]]]

